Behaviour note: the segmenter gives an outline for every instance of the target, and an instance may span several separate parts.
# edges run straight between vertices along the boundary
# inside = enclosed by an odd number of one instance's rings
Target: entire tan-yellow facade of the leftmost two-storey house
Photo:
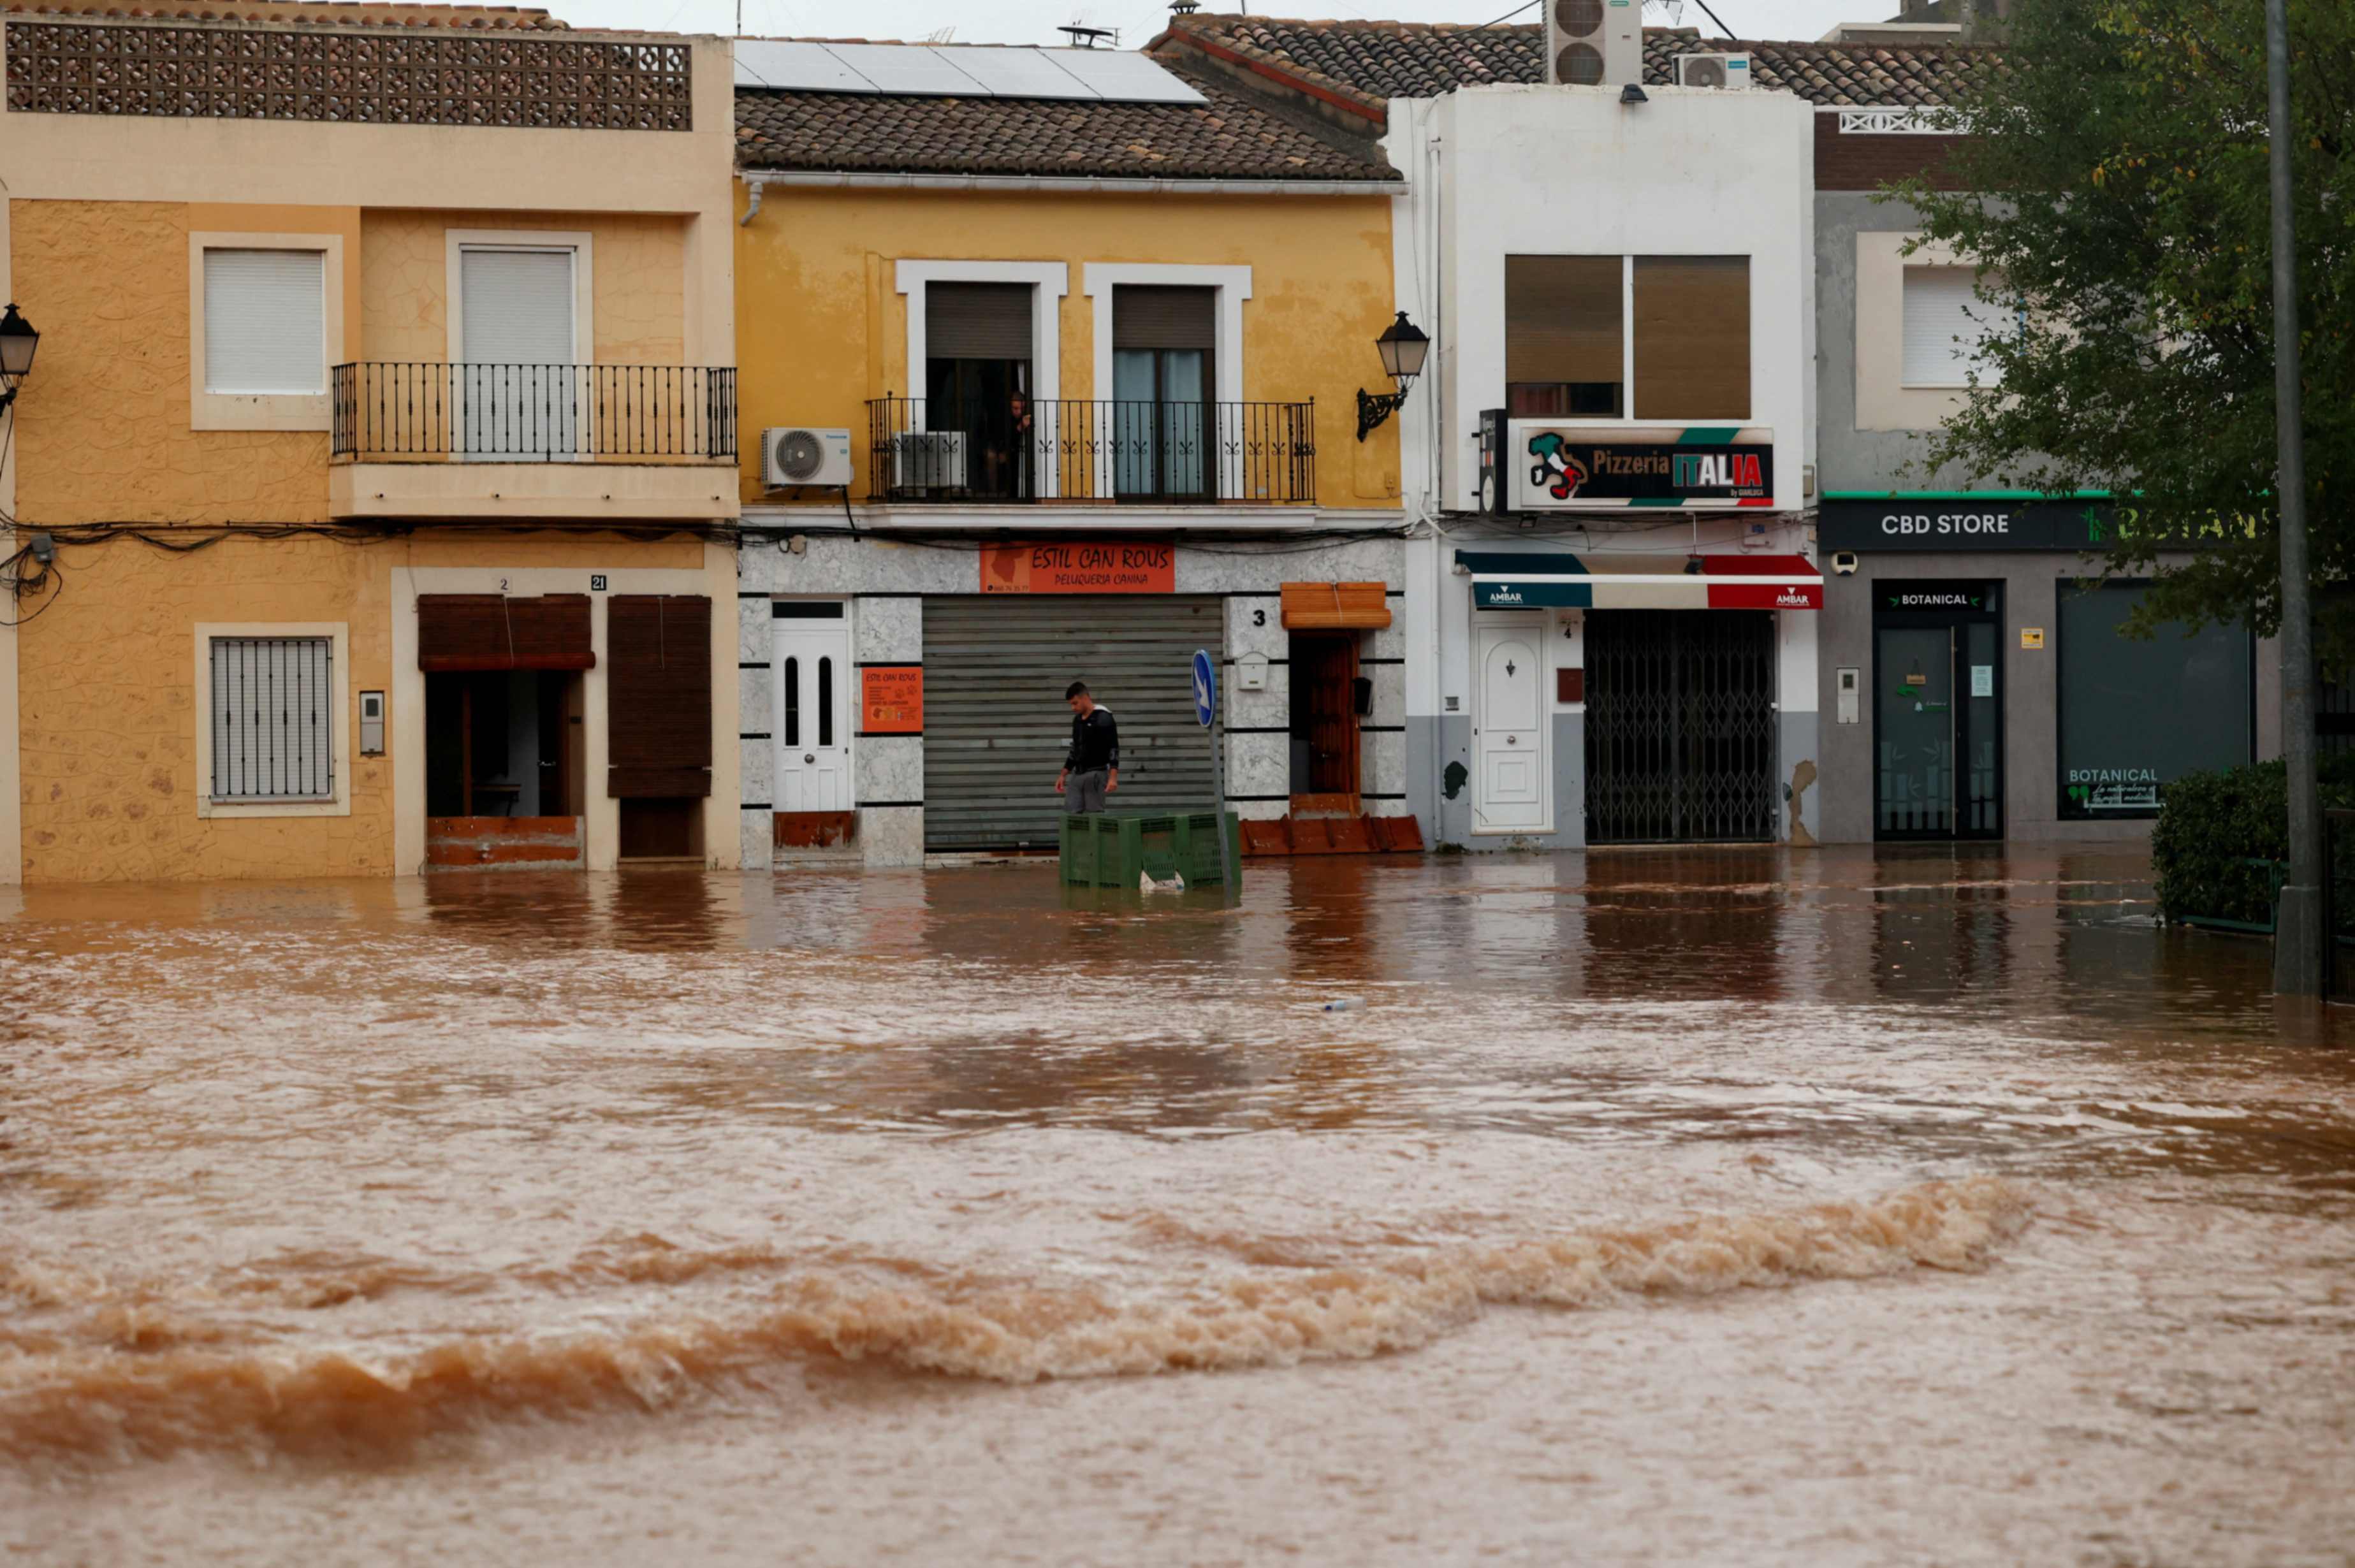
[[[238,16],[0,28],[0,878],[735,864],[725,42]]]

